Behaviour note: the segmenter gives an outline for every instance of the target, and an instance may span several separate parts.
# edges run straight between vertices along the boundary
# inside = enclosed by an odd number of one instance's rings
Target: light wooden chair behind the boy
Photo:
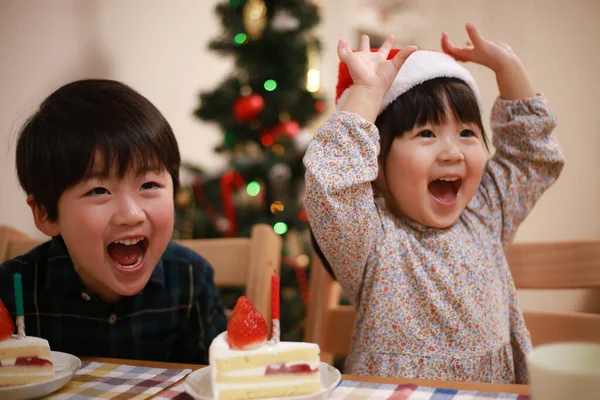
[[[0,263],[27,253],[45,239],[32,239],[18,230],[0,225]],[[271,276],[279,273],[281,236],[265,224],[252,228],[249,238],[192,239],[178,241],[214,268],[217,287],[244,287],[245,294],[271,321]]]

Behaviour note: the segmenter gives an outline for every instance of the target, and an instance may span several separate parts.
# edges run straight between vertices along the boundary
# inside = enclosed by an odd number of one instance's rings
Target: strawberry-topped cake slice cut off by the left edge
[[[48,341],[37,337],[18,338],[15,325],[0,300],[0,386],[40,382],[54,376]]]

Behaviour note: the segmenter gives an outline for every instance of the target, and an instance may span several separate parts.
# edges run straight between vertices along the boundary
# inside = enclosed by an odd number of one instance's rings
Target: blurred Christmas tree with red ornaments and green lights
[[[216,6],[222,32],[214,52],[235,59],[231,74],[200,94],[195,115],[223,133],[215,151],[228,166],[218,175],[194,173],[176,201],[176,237],[249,236],[257,223],[283,236],[282,339],[301,340],[310,237],[303,208],[302,158],[325,111],[319,49],[313,28],[318,1],[229,0]],[[224,293],[232,307],[239,293]],[[229,304],[227,304],[229,303]]]

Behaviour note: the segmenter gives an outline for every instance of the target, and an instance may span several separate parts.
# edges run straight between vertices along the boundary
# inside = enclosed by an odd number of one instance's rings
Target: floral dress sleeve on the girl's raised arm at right
[[[552,133],[556,117],[544,96],[498,98],[492,109],[496,153],[470,207],[503,245],[510,243],[537,200],[558,179],[564,156]]]

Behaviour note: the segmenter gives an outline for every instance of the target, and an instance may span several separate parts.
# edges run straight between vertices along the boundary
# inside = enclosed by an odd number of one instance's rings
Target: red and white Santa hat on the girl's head
[[[372,49],[371,51],[377,50]],[[400,49],[390,50],[388,60],[394,58],[399,51]],[[390,90],[388,90],[383,98],[383,104],[379,113],[385,110],[400,95],[425,81],[435,78],[457,78],[464,81],[473,90],[473,93],[475,93],[479,109],[483,110],[481,95],[479,94],[475,79],[473,79],[473,76],[471,76],[471,73],[465,67],[445,53],[432,50],[417,50],[408,57],[400,68],[400,71],[398,71],[398,75],[396,75],[396,79],[392,83]],[[335,104],[338,108],[348,97],[348,93],[350,92],[348,89],[352,86],[352,83],[348,66],[340,62],[335,94]]]

